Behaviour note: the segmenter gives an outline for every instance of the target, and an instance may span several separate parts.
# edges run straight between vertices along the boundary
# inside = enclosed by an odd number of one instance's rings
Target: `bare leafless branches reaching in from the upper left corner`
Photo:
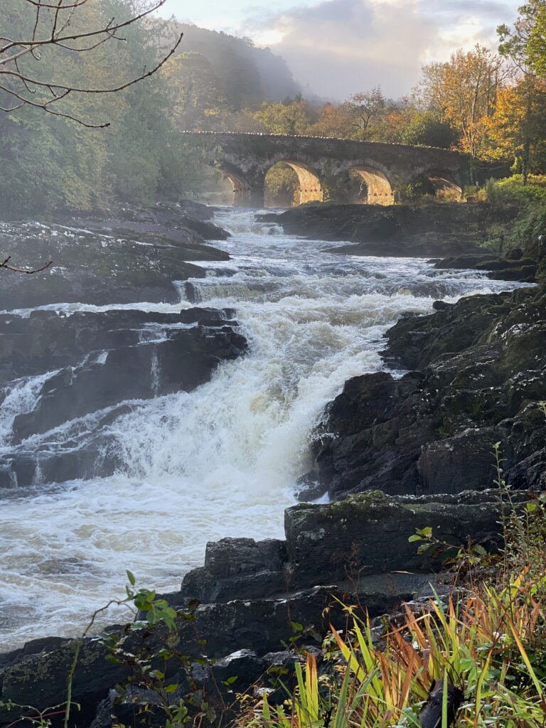
[[[110,84],[82,84],[58,68],[85,63],[93,52],[122,44],[132,25],[157,10],[166,0],[154,3],[106,3],[118,15],[106,17],[92,0],[3,0],[0,11],[0,110],[12,114],[30,106],[47,114],[72,119],[85,127],[106,127],[109,122],[90,122],[66,106],[69,96],[114,94],[153,76],[181,43],[172,47],[138,74],[118,78]]]

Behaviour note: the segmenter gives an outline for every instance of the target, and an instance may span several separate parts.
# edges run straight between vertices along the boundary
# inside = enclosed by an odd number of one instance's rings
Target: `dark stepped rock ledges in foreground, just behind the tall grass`
[[[521,493],[515,501],[528,497]],[[408,537],[416,528],[431,526],[454,546],[472,535],[491,548],[499,517],[493,491],[421,498],[370,491],[338,504],[290,508],[285,541],[209,544],[205,566],[185,577],[180,592],[165,595],[181,610],[177,637],[166,644],[176,644],[177,654],[186,656],[182,668],[175,657],[162,660],[162,673],[177,686],[173,702],[192,682],[221,707],[222,700],[230,700],[226,687],[245,691],[268,668],[293,664],[297,653],[286,647],[292,636],[298,637],[298,647],[316,650],[329,624],[344,625],[339,601],[357,598],[375,617],[401,601],[428,596],[431,584],[441,593],[441,578],[431,573],[440,564],[438,557],[417,554]],[[197,609],[191,606],[195,597],[202,600]],[[374,625],[379,628],[381,620]],[[111,645],[115,641],[116,650],[143,657],[165,639],[161,629],[135,627],[110,628],[106,640],[84,639],[72,687],[72,699],[81,705],[75,725],[109,728],[130,709],[130,697],[119,688],[112,691],[130,678],[132,661],[108,662]],[[74,640],[49,638],[0,655],[0,700],[41,710],[62,703],[75,647]],[[132,690],[139,703],[146,695],[153,699],[138,684]],[[0,708],[0,724],[12,716]]]

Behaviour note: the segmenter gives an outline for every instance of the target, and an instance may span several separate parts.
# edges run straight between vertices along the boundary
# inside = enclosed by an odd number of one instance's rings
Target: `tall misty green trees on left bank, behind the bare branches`
[[[32,16],[21,12],[25,2],[1,0],[2,35],[28,36]],[[99,27],[111,17],[135,17],[155,5],[93,0],[79,7],[78,23]],[[114,87],[133,78],[135,68],[156,68],[164,49],[178,39],[174,33],[172,23],[149,18],[127,25],[124,41],[76,54],[45,48],[39,60],[28,63],[42,78],[63,77],[73,87]],[[68,94],[57,106],[66,116],[28,104],[0,114],[0,217],[51,215],[59,208],[100,211],[118,202],[148,205],[197,191],[202,160],[175,127],[176,89],[167,65],[116,93]],[[89,130],[78,119],[93,125],[108,119],[109,125]]]

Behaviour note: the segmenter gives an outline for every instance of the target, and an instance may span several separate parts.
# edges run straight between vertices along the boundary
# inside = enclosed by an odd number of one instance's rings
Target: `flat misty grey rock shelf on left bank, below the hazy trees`
[[[29,269],[52,261],[44,272],[4,276],[0,310],[72,302],[176,303],[176,281],[205,276],[194,261],[211,263],[213,272],[213,261],[229,260],[225,251],[205,244],[229,236],[207,219],[211,215],[205,205],[188,203],[151,210],[127,207],[113,210],[111,218],[0,221],[3,260],[11,256],[11,264]]]

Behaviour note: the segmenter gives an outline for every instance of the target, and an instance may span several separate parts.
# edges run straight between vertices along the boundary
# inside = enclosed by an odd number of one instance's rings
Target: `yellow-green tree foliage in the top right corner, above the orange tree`
[[[546,77],[546,0],[530,0],[519,9],[514,27],[497,28],[499,53],[524,74]]]

